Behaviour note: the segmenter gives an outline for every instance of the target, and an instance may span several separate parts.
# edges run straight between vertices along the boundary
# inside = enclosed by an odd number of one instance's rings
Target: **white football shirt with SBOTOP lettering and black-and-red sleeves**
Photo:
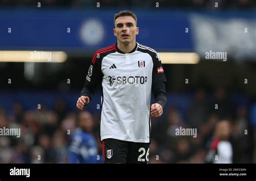
[[[114,44],[98,50],[85,86],[95,90],[102,84],[100,141],[149,143],[151,88],[165,81],[161,60],[150,47],[136,43],[130,53],[124,53]]]

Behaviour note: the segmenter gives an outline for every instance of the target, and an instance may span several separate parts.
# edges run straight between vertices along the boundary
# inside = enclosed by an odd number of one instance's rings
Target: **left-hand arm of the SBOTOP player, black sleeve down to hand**
[[[97,51],[92,58],[91,65],[85,78],[84,87],[81,91],[80,98],[77,100],[77,108],[83,110],[92,99],[98,83],[102,81],[102,62],[100,61],[100,54]]]

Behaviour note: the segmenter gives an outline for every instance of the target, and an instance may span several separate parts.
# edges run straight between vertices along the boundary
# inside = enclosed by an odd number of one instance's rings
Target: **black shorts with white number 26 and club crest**
[[[149,163],[149,145],[107,138],[102,141],[104,163]]]

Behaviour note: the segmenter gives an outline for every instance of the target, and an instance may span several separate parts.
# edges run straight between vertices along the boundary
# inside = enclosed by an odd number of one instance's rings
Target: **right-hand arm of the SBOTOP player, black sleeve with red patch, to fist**
[[[161,64],[161,59],[156,53],[153,57],[153,72],[152,72],[152,93],[156,103],[151,105],[151,116],[154,118],[160,117],[163,114],[163,108],[167,103],[165,82],[166,77],[164,74],[164,68]]]

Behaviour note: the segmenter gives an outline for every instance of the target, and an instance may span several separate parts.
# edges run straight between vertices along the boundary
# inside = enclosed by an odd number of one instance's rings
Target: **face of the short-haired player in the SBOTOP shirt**
[[[136,41],[136,34],[139,33],[139,28],[136,27],[136,21],[131,16],[122,16],[114,22],[116,28],[113,29],[114,35],[118,41],[123,44],[130,44]]]

